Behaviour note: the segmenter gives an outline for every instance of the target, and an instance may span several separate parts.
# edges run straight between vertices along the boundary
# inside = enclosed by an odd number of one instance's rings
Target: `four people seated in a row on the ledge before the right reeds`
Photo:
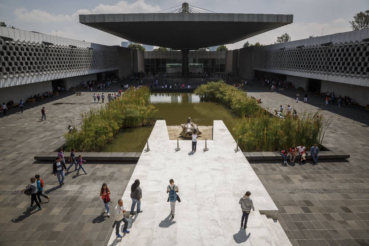
[[[300,146],[292,146],[289,149],[282,150],[280,152],[280,155],[283,156],[283,163],[285,164],[287,164],[287,156],[289,156],[290,162],[294,163],[297,155],[300,156],[300,162],[305,163],[308,153],[306,152],[305,146],[301,144]],[[310,148],[310,155],[313,158],[314,164],[318,164],[319,148],[317,147],[316,143],[314,143],[314,146]]]

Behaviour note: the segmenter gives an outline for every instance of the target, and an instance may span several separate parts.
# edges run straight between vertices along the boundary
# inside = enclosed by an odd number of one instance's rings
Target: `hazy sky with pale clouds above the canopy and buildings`
[[[122,38],[79,23],[79,14],[155,13],[182,4],[183,0],[37,0],[0,1],[0,21],[7,25],[59,37],[104,45],[120,45]],[[217,13],[293,14],[293,23],[256,35],[228,49],[250,44],[274,44],[288,33],[292,40],[352,31],[349,21],[355,13],[369,9],[369,0],[187,0],[187,3]],[[164,13],[166,11],[163,11]],[[219,30],[219,35],[225,35]]]

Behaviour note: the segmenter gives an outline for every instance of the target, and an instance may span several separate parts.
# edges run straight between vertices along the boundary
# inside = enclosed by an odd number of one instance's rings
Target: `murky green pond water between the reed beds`
[[[229,108],[214,102],[200,102],[200,97],[193,93],[152,93],[150,101],[158,109],[155,117],[164,119],[166,125],[180,125],[191,117],[197,125],[213,125],[214,120],[223,120],[234,137],[232,127],[236,115]],[[151,127],[122,129],[114,141],[101,152],[142,152]]]

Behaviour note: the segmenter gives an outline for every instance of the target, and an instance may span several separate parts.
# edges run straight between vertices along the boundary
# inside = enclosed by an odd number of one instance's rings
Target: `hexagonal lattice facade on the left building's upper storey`
[[[0,39],[0,79],[118,67],[118,52]]]

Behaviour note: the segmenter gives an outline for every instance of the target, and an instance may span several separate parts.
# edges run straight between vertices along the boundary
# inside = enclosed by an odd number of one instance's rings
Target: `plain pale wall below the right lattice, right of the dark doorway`
[[[321,81],[321,92],[333,92],[338,97],[341,95],[349,96],[358,104],[365,106],[369,104],[369,87],[355,86],[353,84],[344,84],[327,80]]]

